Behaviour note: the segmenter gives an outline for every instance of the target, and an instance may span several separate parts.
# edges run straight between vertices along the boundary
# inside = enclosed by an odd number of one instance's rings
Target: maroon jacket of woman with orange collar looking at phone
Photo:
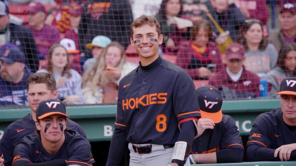
[[[187,42],[183,42],[179,45],[179,50],[176,59],[176,65],[183,68],[191,77],[192,79],[198,79],[199,75],[199,68],[190,69],[192,58],[194,55],[192,52],[194,49],[190,46],[192,40],[188,40]],[[222,62],[221,52],[217,45],[213,42],[209,42],[207,45],[207,49],[209,52],[208,56],[211,56],[211,63],[216,64],[216,71],[220,71],[224,68],[224,64]]]

